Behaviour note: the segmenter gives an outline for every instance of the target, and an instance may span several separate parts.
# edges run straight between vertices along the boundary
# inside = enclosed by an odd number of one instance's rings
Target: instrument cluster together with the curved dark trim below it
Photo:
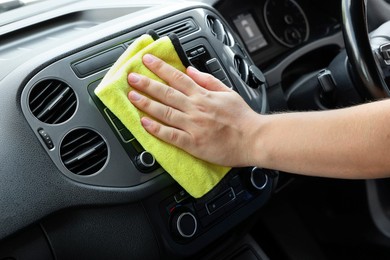
[[[216,8],[263,71],[271,111],[304,109],[288,101],[294,84],[344,48],[339,1],[220,1]],[[252,38],[261,44],[252,47]]]

